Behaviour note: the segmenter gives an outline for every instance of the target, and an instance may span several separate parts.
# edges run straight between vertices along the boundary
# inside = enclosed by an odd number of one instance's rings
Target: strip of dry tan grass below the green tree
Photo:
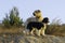
[[[0,33],[22,33],[24,27],[17,28],[17,27],[0,27]]]

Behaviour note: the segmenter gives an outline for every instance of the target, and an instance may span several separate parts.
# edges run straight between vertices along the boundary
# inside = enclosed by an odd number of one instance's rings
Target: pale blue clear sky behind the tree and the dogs
[[[25,22],[32,16],[35,10],[40,10],[43,17],[61,19],[65,24],[65,0],[0,0],[0,20],[5,17],[5,13],[16,6],[20,17]]]

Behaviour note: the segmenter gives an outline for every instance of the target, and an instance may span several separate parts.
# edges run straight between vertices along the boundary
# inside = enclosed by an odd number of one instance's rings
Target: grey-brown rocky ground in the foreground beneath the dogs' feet
[[[0,34],[0,43],[65,43],[65,37],[30,35],[30,34]]]

